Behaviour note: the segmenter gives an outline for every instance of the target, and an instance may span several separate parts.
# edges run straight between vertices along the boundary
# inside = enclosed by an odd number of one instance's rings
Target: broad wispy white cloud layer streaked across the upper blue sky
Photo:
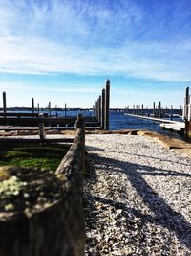
[[[190,11],[139,3],[2,0],[0,72],[191,81]]]

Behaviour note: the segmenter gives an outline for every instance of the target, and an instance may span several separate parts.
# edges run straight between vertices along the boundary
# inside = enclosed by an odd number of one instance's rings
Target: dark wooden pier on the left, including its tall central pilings
[[[11,131],[11,130],[40,130],[43,128],[46,130],[64,130],[64,129],[75,129],[76,116],[67,116],[67,111],[74,110],[80,113],[81,111],[93,111],[89,116],[84,116],[84,122],[86,129],[109,129],[109,111],[110,111],[110,80],[105,81],[105,88],[102,89],[102,94],[99,95],[96,101],[96,108],[67,108],[65,104],[64,116],[58,117],[57,110],[61,108],[51,108],[51,102],[48,107],[37,108],[34,105],[34,98],[32,98],[32,108],[15,108],[7,107],[6,92],[3,92],[3,107],[0,112],[0,130]],[[14,111],[12,111],[14,109]],[[20,110],[26,109],[28,112],[20,112]],[[46,110],[46,112],[42,112]],[[53,115],[53,110],[55,115]],[[18,112],[19,111],[19,112]]]

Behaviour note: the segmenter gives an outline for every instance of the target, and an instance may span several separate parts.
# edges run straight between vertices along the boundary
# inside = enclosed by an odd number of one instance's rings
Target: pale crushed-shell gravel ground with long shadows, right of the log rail
[[[85,255],[191,255],[191,160],[138,135],[86,146]]]

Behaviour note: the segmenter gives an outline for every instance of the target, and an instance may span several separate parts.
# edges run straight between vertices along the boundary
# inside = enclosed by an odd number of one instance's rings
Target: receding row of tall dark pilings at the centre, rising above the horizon
[[[110,80],[105,81],[105,88],[96,100],[96,119],[101,128],[109,129],[109,111],[110,111]]]

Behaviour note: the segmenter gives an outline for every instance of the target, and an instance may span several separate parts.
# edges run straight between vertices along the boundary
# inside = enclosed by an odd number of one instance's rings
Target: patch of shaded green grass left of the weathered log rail
[[[0,144],[0,166],[34,167],[56,170],[69,150],[62,144]]]

